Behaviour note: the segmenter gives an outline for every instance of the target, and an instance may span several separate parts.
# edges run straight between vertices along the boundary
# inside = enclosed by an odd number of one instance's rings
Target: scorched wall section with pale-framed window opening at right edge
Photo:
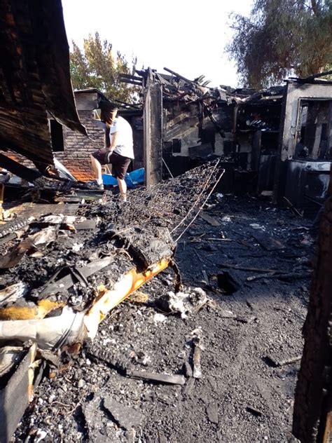
[[[310,217],[321,207],[332,161],[332,81],[286,83],[275,194]]]

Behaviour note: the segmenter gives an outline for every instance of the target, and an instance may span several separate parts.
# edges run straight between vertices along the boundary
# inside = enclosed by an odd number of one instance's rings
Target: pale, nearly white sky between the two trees
[[[69,45],[83,46],[96,31],[137,69],[163,67],[194,79],[205,75],[209,86],[238,86],[236,69],[224,53],[232,36],[231,12],[249,14],[251,0],[62,0]]]

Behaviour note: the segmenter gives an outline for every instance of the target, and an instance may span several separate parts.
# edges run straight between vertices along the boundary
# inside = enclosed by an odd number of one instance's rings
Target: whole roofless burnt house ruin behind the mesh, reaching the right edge
[[[222,191],[268,191],[280,204],[317,213],[332,159],[331,81],[320,74],[261,91],[206,88],[165,70],[171,75],[137,71],[147,182],[221,157]]]

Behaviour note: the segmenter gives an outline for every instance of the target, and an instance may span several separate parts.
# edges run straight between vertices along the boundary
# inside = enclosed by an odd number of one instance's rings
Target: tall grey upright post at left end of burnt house
[[[144,167],[146,186],[162,179],[162,85],[151,69],[146,80],[144,103]]]

